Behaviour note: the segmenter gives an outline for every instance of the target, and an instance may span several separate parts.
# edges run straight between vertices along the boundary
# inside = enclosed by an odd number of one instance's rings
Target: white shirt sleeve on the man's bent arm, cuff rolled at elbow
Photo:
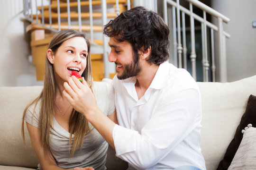
[[[161,103],[141,134],[118,125],[113,129],[117,156],[139,169],[154,166],[200,125],[201,97],[198,89],[167,94]],[[195,139],[195,142],[200,139]]]

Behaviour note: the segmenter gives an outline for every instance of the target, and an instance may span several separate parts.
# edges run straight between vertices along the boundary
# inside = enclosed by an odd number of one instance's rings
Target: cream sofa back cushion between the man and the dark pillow
[[[234,137],[250,94],[256,95],[256,76],[231,83],[198,82],[202,96],[201,152],[207,170],[216,170]]]

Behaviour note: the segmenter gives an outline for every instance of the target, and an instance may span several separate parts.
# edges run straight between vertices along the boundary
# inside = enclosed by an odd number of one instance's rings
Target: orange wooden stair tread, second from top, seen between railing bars
[[[38,19],[42,18],[42,14],[39,14],[37,16],[38,16]],[[33,18],[36,19],[37,16],[34,14]],[[44,12],[44,18],[48,19],[49,17],[50,17],[50,14],[49,14],[49,11],[47,10],[47,11]],[[60,17],[61,18],[68,18],[68,14],[67,13],[60,13]],[[90,17],[90,13],[89,12],[81,13],[81,18],[89,18],[89,17]],[[101,18],[102,14],[101,14],[101,12],[93,12],[92,13],[92,17],[94,17],[94,18]],[[107,13],[107,17],[114,18],[114,17],[116,17],[116,13]],[[57,18],[58,18],[58,13],[52,12],[52,19],[57,19]],[[71,12],[70,13],[70,18],[78,18],[78,13]]]

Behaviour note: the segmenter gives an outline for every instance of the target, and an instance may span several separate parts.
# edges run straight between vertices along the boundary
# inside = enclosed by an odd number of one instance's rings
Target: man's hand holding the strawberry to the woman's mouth
[[[64,83],[64,96],[68,99],[73,108],[85,117],[90,111],[98,108],[95,97],[82,77],[82,83],[75,77],[71,76],[68,82]]]

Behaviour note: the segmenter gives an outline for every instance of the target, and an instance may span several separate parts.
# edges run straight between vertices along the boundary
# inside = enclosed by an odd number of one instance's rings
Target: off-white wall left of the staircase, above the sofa
[[[22,10],[23,0],[0,0],[0,86],[43,85],[28,61],[29,38]]]

